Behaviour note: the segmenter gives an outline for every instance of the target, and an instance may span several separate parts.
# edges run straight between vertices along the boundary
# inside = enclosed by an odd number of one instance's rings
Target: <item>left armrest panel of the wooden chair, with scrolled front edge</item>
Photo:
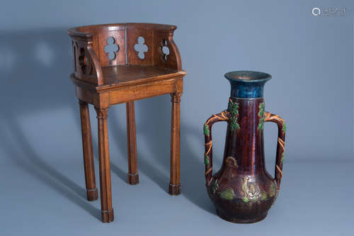
[[[70,28],[67,33],[72,38],[74,52],[74,76],[85,82],[103,85],[102,67],[93,51],[93,36]]]

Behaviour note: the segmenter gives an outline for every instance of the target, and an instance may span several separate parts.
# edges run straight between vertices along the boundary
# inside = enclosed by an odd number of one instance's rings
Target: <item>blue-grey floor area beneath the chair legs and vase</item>
[[[1,159],[0,235],[353,235],[354,162],[285,162],[268,217],[239,225],[215,215],[202,168],[182,165],[182,194],[169,196],[169,169],[140,172],[130,186],[123,160],[112,162],[115,221],[103,224],[99,200],[85,199],[80,161]]]

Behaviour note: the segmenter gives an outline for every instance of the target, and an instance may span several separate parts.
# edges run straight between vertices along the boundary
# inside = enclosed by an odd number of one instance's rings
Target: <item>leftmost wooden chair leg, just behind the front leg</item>
[[[80,100],[79,106],[81,118],[82,150],[84,152],[86,196],[87,200],[95,201],[98,198],[98,191],[96,187],[95,165],[93,163],[89,106],[86,102]]]

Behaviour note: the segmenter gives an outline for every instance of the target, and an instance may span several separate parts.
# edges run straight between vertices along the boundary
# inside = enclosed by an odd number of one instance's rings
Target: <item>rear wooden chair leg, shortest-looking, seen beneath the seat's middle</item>
[[[128,147],[128,184],[138,184],[137,173],[137,137],[135,134],[135,108],[134,101],[130,101],[127,107],[127,147]]]

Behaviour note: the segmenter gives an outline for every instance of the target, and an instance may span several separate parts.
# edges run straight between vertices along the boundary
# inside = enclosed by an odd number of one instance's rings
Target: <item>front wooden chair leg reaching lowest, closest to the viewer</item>
[[[112,191],[110,186],[110,154],[108,146],[107,112],[108,108],[95,108],[98,120],[98,153],[100,163],[100,190],[102,222],[114,219]]]

